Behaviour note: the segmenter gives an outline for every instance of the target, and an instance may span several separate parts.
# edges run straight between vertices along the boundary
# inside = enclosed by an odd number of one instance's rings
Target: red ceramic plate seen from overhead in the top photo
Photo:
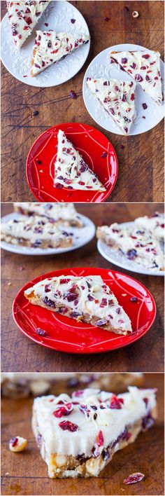
[[[96,172],[106,191],[81,191],[53,186],[57,156],[57,134],[66,133],[89,167]],[[106,157],[101,157],[107,152]],[[36,139],[27,157],[27,181],[39,202],[104,202],[117,180],[117,156],[102,132],[86,124],[65,123],[54,126]]]

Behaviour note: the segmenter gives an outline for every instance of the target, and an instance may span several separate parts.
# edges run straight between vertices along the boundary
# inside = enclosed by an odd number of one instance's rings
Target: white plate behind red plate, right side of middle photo
[[[130,227],[133,226],[134,222],[124,222],[121,223],[122,227]],[[103,243],[101,240],[97,241],[97,248],[99,253],[103,256],[104,259],[108,260],[108,262],[113,263],[115,266],[124,268],[126,270],[131,270],[131,272],[136,272],[138,274],[146,274],[146,275],[163,275],[163,270],[147,270],[139,265],[137,265],[134,260],[127,260],[124,255],[120,255],[120,253],[115,252],[112,248],[108,247],[108,244]]]

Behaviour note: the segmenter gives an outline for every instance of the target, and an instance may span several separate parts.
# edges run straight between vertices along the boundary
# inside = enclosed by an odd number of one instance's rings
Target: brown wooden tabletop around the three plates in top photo
[[[112,201],[164,201],[164,125],[137,136],[110,134],[89,116],[82,99],[82,79],[92,59],[108,46],[136,43],[164,57],[164,1],[73,1],[84,15],[92,43],[80,72],[55,88],[33,88],[13,78],[1,64],[1,201],[34,201],[25,177],[27,153],[35,139],[63,122],[94,125],[112,142],[119,177]],[[127,7],[129,4],[129,7]],[[127,8],[126,8],[127,7]],[[138,18],[132,17],[138,11]],[[1,2],[2,17],[6,2]],[[106,22],[104,17],[109,17]],[[73,100],[71,90],[78,95]],[[38,111],[34,117],[33,112]],[[124,149],[121,149],[121,144]]]

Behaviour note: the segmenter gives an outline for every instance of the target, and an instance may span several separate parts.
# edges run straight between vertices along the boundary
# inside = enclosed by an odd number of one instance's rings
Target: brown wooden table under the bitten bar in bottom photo
[[[50,479],[31,432],[33,399],[2,399],[1,495],[164,495],[164,375],[145,374],[144,387],[158,387],[159,417],[135,443],[115,453],[98,478]],[[11,453],[13,436],[28,439],[24,453]],[[129,474],[141,471],[141,483],[123,485]]]

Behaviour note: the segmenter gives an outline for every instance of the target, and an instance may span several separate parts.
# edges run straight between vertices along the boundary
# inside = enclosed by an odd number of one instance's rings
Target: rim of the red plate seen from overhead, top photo
[[[113,179],[111,181],[111,184],[109,187],[107,187],[106,189],[106,192],[98,192],[99,194],[99,200],[89,200],[89,203],[92,203],[92,202],[105,202],[105,200],[107,198],[109,198],[110,194],[112,193],[113,189],[115,188],[115,184],[116,184],[116,181],[117,181],[117,177],[118,177],[118,160],[117,160],[117,154],[115,152],[115,149],[113,148],[113,145],[111,144],[111,142],[109,141],[109,139],[106,137],[106,135],[103,134],[103,132],[101,132],[100,130],[97,130],[96,128],[94,128],[93,126],[91,125],[87,125],[87,124],[83,124],[83,123],[60,123],[60,124],[57,124],[55,126],[52,126],[52,128],[48,128],[47,130],[45,130],[44,132],[41,133],[41,135],[38,136],[38,138],[36,138],[35,142],[31,145],[31,149],[29,150],[29,153],[28,153],[28,156],[27,156],[27,162],[26,162],[26,176],[27,176],[27,182],[29,184],[29,188],[31,190],[31,192],[33,193],[34,197],[36,198],[36,200],[38,200],[39,202],[45,202],[45,201],[49,201],[48,199],[47,200],[42,200],[40,198],[40,196],[38,195],[38,191],[36,191],[36,188],[34,190],[34,187],[32,186],[31,184],[31,179],[30,179],[30,174],[29,174],[29,166],[31,165],[31,163],[33,162],[33,160],[30,160],[31,158],[31,154],[33,152],[33,149],[34,147],[36,146],[36,144],[41,140],[41,138],[46,135],[46,133],[48,132],[57,132],[57,130],[59,129],[62,129],[64,130],[64,132],[67,133],[67,126],[82,126],[86,132],[89,132],[89,130],[93,130],[94,132],[97,132],[98,135],[101,135],[101,137],[104,137],[104,139],[106,139],[107,141],[107,144],[110,145],[110,155],[114,156],[115,158],[115,165],[113,165]],[[68,132],[69,134],[69,132]],[[105,149],[104,149],[105,150]],[[108,160],[108,165],[110,165],[110,156],[107,157],[107,160]],[[111,165],[112,167],[112,165]],[[65,188],[64,188],[65,189]],[[55,190],[56,191],[56,190]],[[60,190],[60,191],[63,191],[63,188]],[[74,192],[78,192],[78,194],[80,195],[80,193],[83,192],[83,194],[87,195],[89,193],[92,193],[92,191],[85,191],[85,190],[73,190],[73,196],[74,196]],[[46,192],[47,194],[49,194],[48,192]],[[94,196],[96,195],[96,191],[94,192]],[[101,197],[101,198],[100,198]],[[52,198],[52,196],[51,196]],[[62,201],[71,201],[71,202],[80,202],[80,200],[75,200],[74,198],[72,198],[71,200],[56,200],[54,199],[54,202],[62,202]],[[82,202],[87,202],[87,200],[82,200]]]

